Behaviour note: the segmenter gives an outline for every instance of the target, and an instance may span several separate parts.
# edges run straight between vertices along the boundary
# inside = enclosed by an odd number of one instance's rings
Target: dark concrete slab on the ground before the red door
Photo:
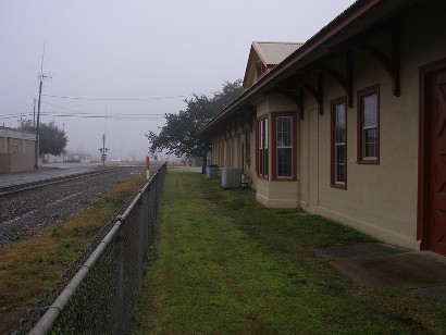
[[[318,249],[315,255],[352,281],[375,287],[413,288],[410,295],[446,301],[446,257],[385,244]]]

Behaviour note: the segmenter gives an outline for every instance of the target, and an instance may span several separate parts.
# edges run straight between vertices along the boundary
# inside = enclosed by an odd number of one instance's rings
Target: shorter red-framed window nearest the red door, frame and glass
[[[358,162],[380,162],[380,87],[358,92]]]

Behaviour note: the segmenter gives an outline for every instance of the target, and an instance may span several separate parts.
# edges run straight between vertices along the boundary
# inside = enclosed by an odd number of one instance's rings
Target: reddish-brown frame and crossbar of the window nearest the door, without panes
[[[364,98],[376,95],[376,125],[364,127]],[[376,129],[376,154],[374,157],[364,157],[364,132]],[[357,163],[358,164],[380,164],[380,85],[358,91],[358,144],[357,144]]]

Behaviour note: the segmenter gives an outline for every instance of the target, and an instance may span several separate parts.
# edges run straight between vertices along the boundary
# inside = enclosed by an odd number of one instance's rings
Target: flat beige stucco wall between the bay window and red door
[[[435,11],[413,10],[401,21],[401,96],[392,94],[392,82],[381,63],[368,53],[354,55],[354,108],[347,112],[347,189],[330,186],[330,103],[345,95],[324,76],[324,114],[309,117],[314,108],[306,97],[301,124],[301,153],[309,157],[311,134],[318,131],[318,169],[301,164],[301,206],[387,243],[419,249],[417,240],[419,66],[446,57],[446,23]],[[438,17],[438,16],[437,16]],[[433,21],[433,22],[432,22]],[[358,164],[358,90],[380,85],[380,164]],[[310,125],[309,123],[312,122]],[[314,148],[312,148],[314,149]],[[311,182],[318,175],[319,183]],[[318,199],[311,203],[311,194]]]

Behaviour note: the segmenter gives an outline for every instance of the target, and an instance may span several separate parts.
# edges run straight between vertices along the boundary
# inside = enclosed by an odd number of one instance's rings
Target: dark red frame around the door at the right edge
[[[419,148],[418,148],[418,210],[417,239],[421,250],[426,249],[429,239],[429,163],[430,163],[430,77],[446,71],[446,58],[420,66],[419,86]]]

